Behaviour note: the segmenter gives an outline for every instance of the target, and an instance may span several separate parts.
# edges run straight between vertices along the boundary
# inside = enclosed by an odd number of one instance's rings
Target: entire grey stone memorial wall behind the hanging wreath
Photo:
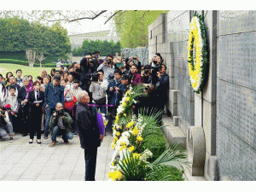
[[[148,27],[148,60],[156,52],[165,60],[173,125],[185,137],[193,127],[203,129],[203,172],[191,174],[207,180],[255,180],[256,11],[197,10],[205,15],[209,61],[201,94],[191,88],[187,62],[194,12],[175,10],[154,20]]]

